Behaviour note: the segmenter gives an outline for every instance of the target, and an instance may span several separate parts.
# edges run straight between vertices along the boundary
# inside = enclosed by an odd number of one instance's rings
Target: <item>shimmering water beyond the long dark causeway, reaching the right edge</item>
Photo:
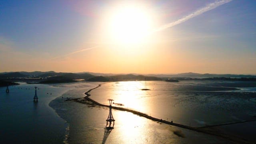
[[[181,81],[111,82],[91,92],[91,98],[130,108],[164,120],[205,126],[256,116],[254,88],[234,90],[233,86],[255,86],[252,82]],[[150,90],[142,90],[150,89]],[[250,92],[253,91],[253,92]]]

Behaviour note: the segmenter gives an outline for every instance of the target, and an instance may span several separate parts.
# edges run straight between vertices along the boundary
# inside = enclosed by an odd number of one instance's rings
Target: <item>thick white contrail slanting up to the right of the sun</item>
[[[208,4],[207,6],[205,6],[204,8],[201,8],[199,10],[196,10],[195,12],[193,12],[192,14],[189,14],[187,16],[185,16],[184,18],[181,18],[179,20],[176,20],[175,22],[171,22],[169,24],[165,24],[163,26],[160,26],[159,28],[157,28],[156,30],[154,30],[154,32],[158,32],[161,30],[165,30],[166,28],[170,28],[172,26],[175,26],[177,24],[180,24],[182,22],[185,22],[187,20],[189,20],[190,18],[194,18],[195,16],[198,16],[204,12],[207,12],[209,10],[212,10],[214,8],[217,8],[218,6],[221,6],[222,4],[226,4],[228,2],[231,2],[232,0],[219,0],[213,3]]]

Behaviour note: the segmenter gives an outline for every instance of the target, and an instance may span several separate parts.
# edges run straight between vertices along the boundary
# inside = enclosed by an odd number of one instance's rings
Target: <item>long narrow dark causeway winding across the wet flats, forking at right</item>
[[[102,84],[106,84],[106,83],[102,83]],[[96,87],[88,90],[87,92],[85,92],[84,94],[86,96],[84,98],[73,98],[73,99],[69,99],[69,100],[65,100],[65,101],[75,101],[75,102],[79,102],[79,103],[83,103],[83,104],[109,107],[108,105],[100,104],[100,103],[96,102],[95,100],[92,100],[91,98],[89,98],[89,96],[91,96],[91,94],[89,94],[89,92],[91,92],[92,90],[102,86],[102,84],[99,84],[98,86],[96,86]],[[87,102],[84,101],[84,100],[86,100]],[[156,121],[156,122],[165,123],[165,124],[169,124],[169,125],[172,125],[172,126],[177,126],[177,127],[180,127],[180,128],[185,128],[185,129],[188,129],[188,130],[193,130],[193,131],[196,131],[196,132],[202,132],[202,133],[205,133],[205,134],[210,134],[210,135],[218,136],[218,137],[230,140],[232,142],[250,143],[250,142],[248,142],[248,141],[246,141],[246,140],[244,140],[242,138],[237,138],[237,137],[234,137],[234,136],[231,136],[231,135],[223,134],[223,133],[221,133],[219,131],[212,130],[212,129],[206,128],[206,127],[203,127],[203,128],[191,127],[191,126],[186,126],[186,125],[182,125],[182,124],[178,124],[178,123],[174,123],[174,122],[169,122],[169,121],[161,120],[161,119],[158,119],[158,118],[154,118],[154,117],[148,116],[147,114],[144,114],[142,112],[138,112],[138,111],[135,111],[135,110],[130,110],[130,109],[127,109],[127,108],[120,108],[120,107],[112,106],[112,109],[131,112],[133,114],[136,114],[138,116],[142,116],[144,118],[147,118],[147,119],[150,119],[150,120],[153,120],[153,121]],[[252,120],[252,121],[255,121],[255,120]],[[242,121],[242,122],[249,122],[249,121]],[[228,123],[228,124],[236,124],[236,123],[242,123],[242,122],[234,122],[234,123]],[[215,125],[215,126],[220,126],[220,125],[227,125],[227,124],[218,124],[218,125]],[[212,126],[212,127],[214,127],[214,126]]]

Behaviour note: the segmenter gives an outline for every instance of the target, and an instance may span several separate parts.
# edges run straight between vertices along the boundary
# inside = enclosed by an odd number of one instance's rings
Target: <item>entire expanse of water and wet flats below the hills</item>
[[[219,144],[232,141],[155,122],[112,109],[114,129],[106,129],[109,108],[67,101],[90,98],[108,105],[192,127],[218,124],[226,134],[256,142],[256,82],[183,80],[76,82],[0,87],[0,143],[4,144]],[[33,102],[38,87],[38,102]],[[250,121],[250,122],[246,122]]]

